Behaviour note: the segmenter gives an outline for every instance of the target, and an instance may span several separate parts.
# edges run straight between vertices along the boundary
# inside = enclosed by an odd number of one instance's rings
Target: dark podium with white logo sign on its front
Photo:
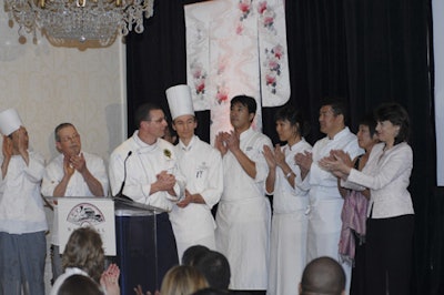
[[[120,267],[122,295],[133,295],[137,285],[154,294],[167,271],[179,263],[171,223],[161,208],[123,197],[47,199],[59,203],[61,251],[77,227],[92,226],[101,234],[105,255],[115,256],[111,260]],[[167,263],[165,254],[171,256]]]

